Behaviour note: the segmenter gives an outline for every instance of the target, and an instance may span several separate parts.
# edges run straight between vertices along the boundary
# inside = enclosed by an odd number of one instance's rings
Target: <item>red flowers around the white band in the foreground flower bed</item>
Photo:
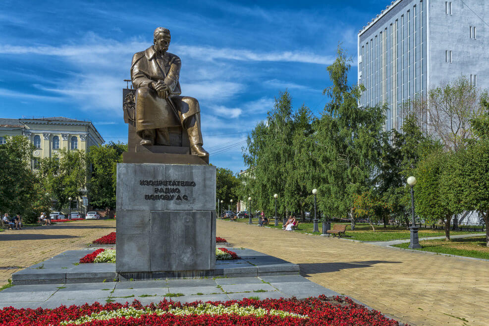
[[[181,304],[180,302],[161,301],[158,305],[151,304],[147,307],[151,310],[157,308],[195,307],[202,302],[192,302]],[[231,300],[226,302],[210,302],[210,304],[222,304],[229,307],[238,304],[241,307],[253,306],[267,310],[277,309],[295,314],[307,315],[308,318],[285,317],[265,315],[257,316],[238,316],[233,314],[223,315],[143,315],[140,318],[118,317],[109,320],[99,320],[85,323],[83,325],[109,326],[109,325],[329,325],[329,326],[398,326],[399,323],[386,318],[380,312],[368,310],[362,305],[354,303],[349,298],[335,297],[327,298],[324,295],[318,298],[307,298],[305,300],[292,299],[266,299],[253,300],[243,299],[240,301]],[[62,321],[76,320],[81,316],[91,315],[101,311],[111,311],[120,308],[127,308],[128,303],[108,303],[101,305],[84,304],[83,306],[72,305],[70,307],[60,306],[54,309],[14,309],[12,307],[0,310],[0,325],[23,326],[23,325],[59,325]],[[134,300],[132,305],[136,309],[143,309],[141,303]]]

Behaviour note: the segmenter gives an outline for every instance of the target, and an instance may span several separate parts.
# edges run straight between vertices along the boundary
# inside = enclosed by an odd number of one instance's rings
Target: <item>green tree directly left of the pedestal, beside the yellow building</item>
[[[92,206],[115,208],[117,163],[122,162],[122,153],[126,151],[127,145],[120,142],[90,147],[87,161],[92,173],[88,183],[88,196]]]

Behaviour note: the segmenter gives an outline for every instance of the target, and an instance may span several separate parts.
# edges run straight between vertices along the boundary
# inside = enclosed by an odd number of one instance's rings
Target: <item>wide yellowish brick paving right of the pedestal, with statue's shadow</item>
[[[489,262],[221,220],[217,235],[411,325],[489,325]]]

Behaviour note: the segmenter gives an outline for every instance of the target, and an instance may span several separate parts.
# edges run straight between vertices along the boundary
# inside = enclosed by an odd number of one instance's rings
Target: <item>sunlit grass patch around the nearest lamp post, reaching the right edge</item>
[[[445,240],[425,240],[420,241],[423,248],[417,249],[430,251],[439,254],[449,254],[465,257],[489,259],[489,248],[486,247],[486,237],[479,236],[473,238]],[[407,249],[409,243],[401,243],[393,247]]]

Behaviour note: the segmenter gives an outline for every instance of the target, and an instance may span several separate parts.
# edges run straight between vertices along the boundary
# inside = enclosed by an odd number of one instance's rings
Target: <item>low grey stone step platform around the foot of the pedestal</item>
[[[105,247],[107,248],[107,247]],[[147,279],[171,279],[192,277],[257,277],[273,275],[299,274],[299,266],[284,260],[251,250],[237,249],[234,251],[241,259],[216,261],[216,269],[212,271],[167,272],[147,274],[138,278],[129,274],[115,272],[115,264],[78,264],[80,258],[97,249],[92,247],[83,250],[70,250],[54,256],[42,263],[30,266],[12,274],[12,283],[26,284],[59,284],[59,283],[89,283],[116,282]]]

